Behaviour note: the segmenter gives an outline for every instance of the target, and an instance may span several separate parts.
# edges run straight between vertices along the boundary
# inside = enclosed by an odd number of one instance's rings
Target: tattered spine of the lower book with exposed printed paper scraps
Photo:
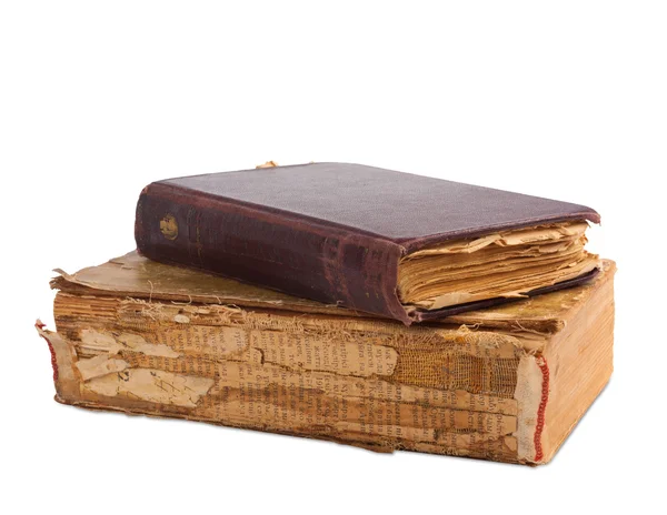
[[[387,452],[519,458],[517,371],[535,357],[510,335],[63,292],[53,319],[58,333],[38,331],[56,352],[60,402]],[[76,395],[63,396],[70,385]]]

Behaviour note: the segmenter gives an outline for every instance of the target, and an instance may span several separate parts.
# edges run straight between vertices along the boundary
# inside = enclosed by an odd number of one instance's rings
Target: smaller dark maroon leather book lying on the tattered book
[[[169,179],[139,198],[138,250],[405,324],[587,281],[596,211],[361,164]]]

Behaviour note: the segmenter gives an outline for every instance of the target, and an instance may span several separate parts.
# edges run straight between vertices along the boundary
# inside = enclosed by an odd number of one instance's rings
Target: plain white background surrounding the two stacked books
[[[644,1],[0,2],[2,513],[665,513],[666,34]],[[51,269],[133,249],[149,182],[267,160],[603,214],[616,370],[550,465],[52,401]]]

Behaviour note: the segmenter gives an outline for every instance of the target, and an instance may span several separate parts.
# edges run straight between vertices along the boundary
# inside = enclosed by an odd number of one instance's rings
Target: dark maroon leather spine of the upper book
[[[397,296],[402,249],[320,220],[163,183],[137,204],[145,256],[410,324]]]

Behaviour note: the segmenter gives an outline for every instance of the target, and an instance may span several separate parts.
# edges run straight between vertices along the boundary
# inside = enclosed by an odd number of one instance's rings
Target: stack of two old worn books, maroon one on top
[[[598,221],[358,164],[171,179],[37,327],[61,403],[542,464],[611,374]]]

